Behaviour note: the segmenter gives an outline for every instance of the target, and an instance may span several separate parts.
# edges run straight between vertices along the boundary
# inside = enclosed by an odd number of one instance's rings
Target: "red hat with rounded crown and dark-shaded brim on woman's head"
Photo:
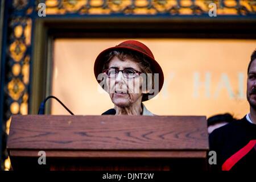
[[[147,61],[150,62],[150,68],[153,73],[158,73],[159,74],[159,92],[163,87],[163,82],[164,82],[164,75],[162,68],[158,64],[158,62],[155,60],[154,55],[150,51],[150,49],[144,45],[141,42],[138,42],[137,40],[126,40],[125,42],[122,42],[118,44],[115,47],[110,47],[102,51],[96,58],[96,61],[94,63],[94,76],[97,77],[100,73],[102,73],[102,69],[104,66],[104,63],[106,61],[106,55],[112,51],[122,51],[122,50],[130,50],[134,52],[139,52],[144,55],[144,57],[147,59]],[[101,82],[100,80],[97,80],[99,83]],[[148,97],[143,97],[142,101],[147,101]]]

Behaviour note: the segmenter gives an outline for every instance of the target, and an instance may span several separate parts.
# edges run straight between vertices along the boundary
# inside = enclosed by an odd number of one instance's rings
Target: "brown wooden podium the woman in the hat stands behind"
[[[13,169],[207,170],[205,117],[13,115]],[[46,165],[39,165],[39,151]]]

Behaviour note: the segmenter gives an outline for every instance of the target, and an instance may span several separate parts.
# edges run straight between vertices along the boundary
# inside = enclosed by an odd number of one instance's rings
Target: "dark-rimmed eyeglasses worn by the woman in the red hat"
[[[109,69],[105,69],[103,71],[103,73],[105,73],[109,78],[117,77],[119,72],[122,72],[123,77],[125,77],[125,78],[135,78],[135,77],[141,75],[141,73],[142,73],[142,72],[139,72],[135,69],[119,70],[119,69],[115,69],[115,68],[109,68]]]

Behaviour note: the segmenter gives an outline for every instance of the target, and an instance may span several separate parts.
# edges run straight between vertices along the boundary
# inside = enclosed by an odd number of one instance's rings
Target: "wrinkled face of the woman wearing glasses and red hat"
[[[142,72],[139,65],[133,61],[131,57],[126,57],[125,60],[120,60],[117,56],[114,56],[109,62],[109,68],[121,71],[123,69],[135,69],[136,71]],[[127,107],[137,101],[141,102],[142,79],[139,76],[126,78],[123,76],[122,72],[118,72],[117,77],[106,77],[106,83],[108,85],[109,96],[114,105],[118,107]]]

